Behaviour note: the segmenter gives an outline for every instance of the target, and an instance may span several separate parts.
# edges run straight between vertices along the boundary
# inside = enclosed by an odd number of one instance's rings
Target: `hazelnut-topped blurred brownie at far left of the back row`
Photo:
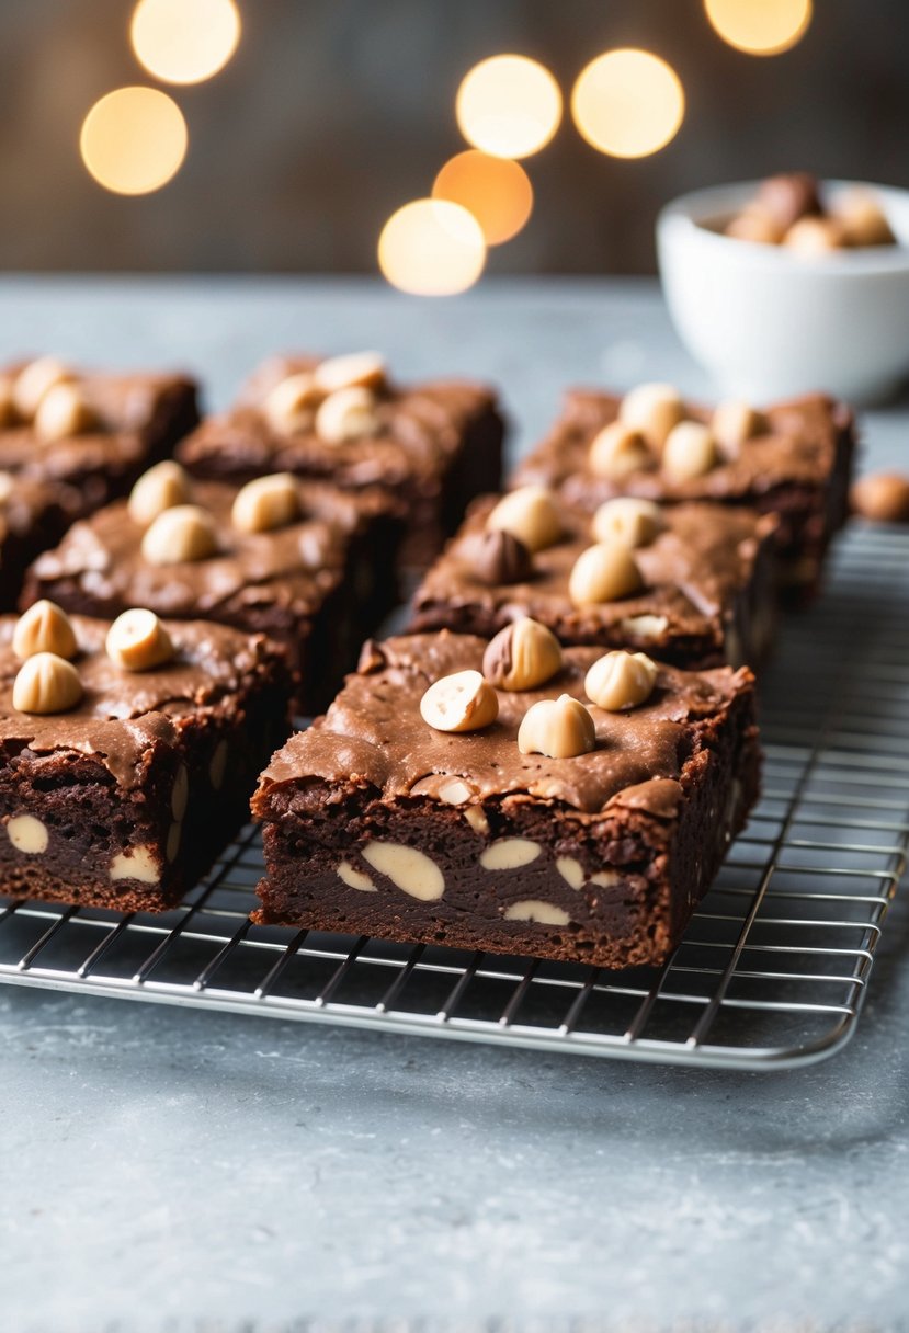
[[[0,368],[0,469],[60,487],[69,520],[129,491],[199,421],[185,375],[83,372],[55,357]]]

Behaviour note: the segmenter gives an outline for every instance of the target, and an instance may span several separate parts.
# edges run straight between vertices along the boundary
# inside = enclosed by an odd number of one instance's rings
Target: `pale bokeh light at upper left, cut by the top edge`
[[[136,59],[165,83],[200,83],[223,69],[240,40],[233,0],[139,0],[129,28]]]

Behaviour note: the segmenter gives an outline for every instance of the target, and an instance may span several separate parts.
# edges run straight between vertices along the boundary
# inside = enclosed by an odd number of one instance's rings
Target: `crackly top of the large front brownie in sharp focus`
[[[458,777],[470,804],[510,797],[564,802],[585,814],[618,806],[672,818],[686,760],[704,730],[753,688],[746,669],[660,666],[648,702],[609,713],[584,690],[601,649],[566,648],[562,669],[545,686],[497,690],[498,717],[489,726],[460,734],[433,730],[420,713],[427,688],[453,672],[480,670],[485,648],[484,639],[447,631],[368,644],[359,672],[327,716],[273,756],[256,797],[259,813],[268,813],[269,789],[281,784],[327,782],[339,800],[352,788],[373,786],[379,798],[393,802],[409,796],[444,800],[447,780]],[[562,693],[586,702],[596,749],[573,758],[521,754],[516,741],[528,708]]]

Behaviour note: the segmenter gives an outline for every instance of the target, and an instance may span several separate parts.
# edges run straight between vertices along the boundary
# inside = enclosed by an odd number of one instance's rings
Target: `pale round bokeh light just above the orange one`
[[[545,68],[526,56],[489,56],[457,89],[454,115],[469,144],[496,157],[529,157],[558,129],[562,95]]]

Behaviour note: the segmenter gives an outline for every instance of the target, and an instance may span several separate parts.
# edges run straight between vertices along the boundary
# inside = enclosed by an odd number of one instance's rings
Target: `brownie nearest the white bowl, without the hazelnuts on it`
[[[745,504],[780,520],[781,591],[809,597],[818,585],[824,555],[848,515],[856,444],[854,420],[844,403],[809,393],[764,409],[769,429],[746,440],[737,457],[724,457],[704,476],[674,481],[656,463],[621,481],[597,476],[588,453],[596,435],[617,419],[621,397],[572,389],[550,433],[518,465],[512,484],[544,483],[565,500],[593,511],[617,495],[646,500],[712,500]],[[692,420],[710,412],[686,405]]]

